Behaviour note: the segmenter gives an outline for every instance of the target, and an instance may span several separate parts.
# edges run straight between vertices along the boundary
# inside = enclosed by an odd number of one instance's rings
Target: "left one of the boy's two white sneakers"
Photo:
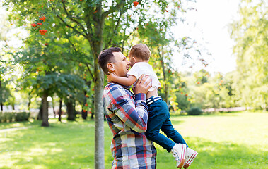
[[[185,151],[186,144],[175,144],[170,151],[176,158],[177,168],[182,168],[183,164],[185,163]]]

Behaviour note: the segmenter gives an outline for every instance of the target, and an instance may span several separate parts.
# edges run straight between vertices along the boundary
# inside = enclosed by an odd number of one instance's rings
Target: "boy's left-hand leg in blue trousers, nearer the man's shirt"
[[[156,101],[149,106],[146,137],[170,152],[173,146],[175,146],[175,142],[159,133],[163,123],[169,118],[168,111],[166,111],[167,108],[168,107],[163,104],[163,100]]]

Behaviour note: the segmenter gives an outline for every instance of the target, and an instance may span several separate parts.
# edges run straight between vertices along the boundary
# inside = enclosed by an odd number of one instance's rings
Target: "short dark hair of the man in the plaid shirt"
[[[109,49],[105,49],[100,52],[100,55],[98,56],[98,63],[100,65],[100,68],[103,69],[103,72],[107,75],[108,74],[108,63],[115,63],[115,56],[112,54],[112,52],[120,52],[121,49],[119,47],[111,47]]]

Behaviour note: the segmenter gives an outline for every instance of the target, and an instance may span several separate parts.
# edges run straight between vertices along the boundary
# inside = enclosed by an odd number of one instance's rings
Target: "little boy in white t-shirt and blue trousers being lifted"
[[[148,64],[151,51],[146,44],[136,44],[129,51],[129,61],[131,70],[127,73],[128,77],[118,77],[110,73],[107,75],[109,82],[117,82],[125,86],[136,86],[136,80],[141,75],[148,75],[152,79],[152,87],[146,94],[146,102],[148,105],[149,117],[146,130],[146,137],[151,141],[161,145],[168,152],[172,152],[177,161],[177,168],[188,168],[189,165],[197,157],[197,151],[188,147],[185,140],[179,132],[177,132],[170,121],[170,113],[168,106],[158,96],[158,88],[161,84],[153,72],[153,68]],[[160,133],[162,130],[167,137]],[[171,138],[172,140],[168,139]]]

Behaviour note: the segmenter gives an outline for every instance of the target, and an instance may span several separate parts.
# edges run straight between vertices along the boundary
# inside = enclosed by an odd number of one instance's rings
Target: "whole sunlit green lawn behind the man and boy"
[[[268,113],[172,117],[187,144],[199,152],[190,169],[268,168]],[[0,123],[0,168],[94,168],[94,121]],[[105,168],[112,134],[105,122]],[[2,130],[28,127],[21,130]],[[156,144],[158,169],[176,168],[172,154]]]

